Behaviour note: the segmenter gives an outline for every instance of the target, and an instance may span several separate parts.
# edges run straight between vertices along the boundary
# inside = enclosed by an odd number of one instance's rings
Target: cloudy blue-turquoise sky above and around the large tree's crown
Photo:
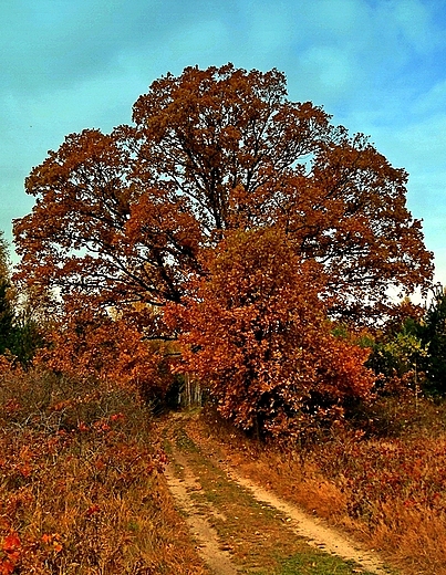
[[[0,230],[65,135],[131,123],[149,84],[189,65],[284,72],[409,174],[446,285],[446,0],[0,0]]]

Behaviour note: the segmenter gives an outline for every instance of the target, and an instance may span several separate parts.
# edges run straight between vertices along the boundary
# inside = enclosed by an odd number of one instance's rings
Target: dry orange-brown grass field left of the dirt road
[[[48,373],[0,381],[0,573],[205,574],[129,390]]]

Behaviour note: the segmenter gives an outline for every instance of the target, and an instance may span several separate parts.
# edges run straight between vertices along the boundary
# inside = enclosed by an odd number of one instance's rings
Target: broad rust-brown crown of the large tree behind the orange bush
[[[164,306],[228,232],[274,227],[320,270],[332,317],[373,322],[432,275],[406,180],[366,137],[290,101],[277,70],[188,67],[151,85],[132,125],[71,134],[32,170],[20,278],[98,306]]]

